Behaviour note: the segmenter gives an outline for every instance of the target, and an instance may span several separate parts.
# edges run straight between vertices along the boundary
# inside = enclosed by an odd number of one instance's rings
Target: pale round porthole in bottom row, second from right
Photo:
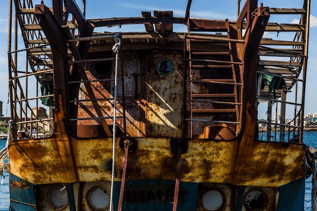
[[[203,205],[209,211],[220,210],[224,201],[223,194],[218,190],[207,191],[203,196]]]

